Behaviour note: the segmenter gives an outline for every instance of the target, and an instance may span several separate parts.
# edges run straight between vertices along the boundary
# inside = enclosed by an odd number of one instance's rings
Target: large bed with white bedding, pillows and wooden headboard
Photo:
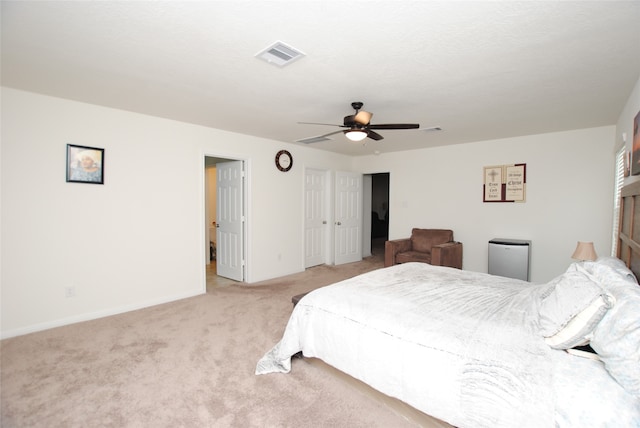
[[[639,192],[618,258],[546,284],[405,263],[314,290],[256,374],[301,351],[458,427],[640,426]]]

